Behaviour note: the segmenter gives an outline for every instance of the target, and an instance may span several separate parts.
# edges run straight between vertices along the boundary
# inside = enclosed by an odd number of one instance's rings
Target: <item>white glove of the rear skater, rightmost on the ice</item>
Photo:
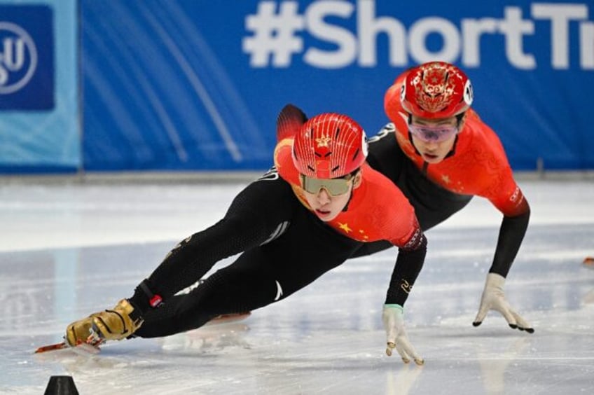
[[[497,275],[496,273],[489,273],[487,275],[487,282],[485,282],[485,289],[481,297],[481,307],[478,308],[478,314],[476,314],[476,318],[472,324],[474,326],[481,325],[489,310],[495,310],[505,317],[510,328],[518,328],[520,331],[534,333],[532,326],[520,317],[520,314],[513,310],[507,300],[505,300],[505,293],[503,292],[504,282],[505,277],[502,275]]]

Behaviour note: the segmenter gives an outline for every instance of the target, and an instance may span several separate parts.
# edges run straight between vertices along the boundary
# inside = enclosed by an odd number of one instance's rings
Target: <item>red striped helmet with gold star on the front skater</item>
[[[293,141],[293,163],[298,172],[317,179],[350,174],[366,157],[365,131],[351,118],[337,113],[311,118]]]

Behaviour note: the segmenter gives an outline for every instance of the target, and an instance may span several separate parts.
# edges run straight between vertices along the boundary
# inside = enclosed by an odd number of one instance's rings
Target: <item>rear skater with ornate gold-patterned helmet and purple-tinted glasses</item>
[[[481,325],[495,310],[511,328],[533,333],[503,289],[526,233],[530,206],[497,134],[470,108],[472,101],[469,78],[453,64],[427,62],[405,71],[385,93],[392,122],[369,140],[367,160],[402,190],[423,230],[448,219],[474,195],[487,198],[503,214],[473,325]],[[388,247],[385,242],[365,244],[355,256]]]

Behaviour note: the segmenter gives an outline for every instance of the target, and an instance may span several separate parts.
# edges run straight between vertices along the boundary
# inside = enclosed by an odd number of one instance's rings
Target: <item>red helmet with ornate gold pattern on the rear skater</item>
[[[400,91],[403,109],[422,118],[449,118],[472,104],[472,85],[453,64],[428,62],[406,74]]]

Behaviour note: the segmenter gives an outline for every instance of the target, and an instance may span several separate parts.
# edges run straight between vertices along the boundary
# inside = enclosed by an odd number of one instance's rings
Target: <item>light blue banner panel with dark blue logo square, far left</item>
[[[81,168],[76,0],[0,0],[0,173]]]

